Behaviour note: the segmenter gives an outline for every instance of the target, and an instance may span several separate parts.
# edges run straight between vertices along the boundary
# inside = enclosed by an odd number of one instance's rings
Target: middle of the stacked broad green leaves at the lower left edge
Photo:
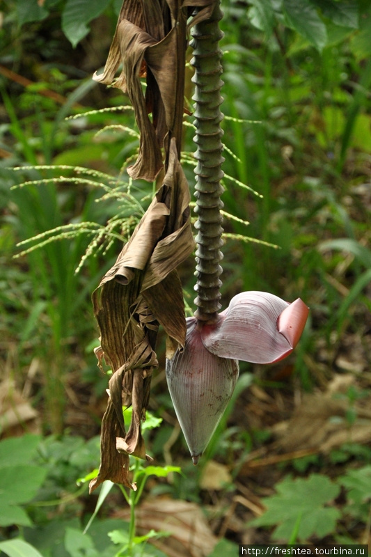
[[[3,466],[0,469],[0,501],[13,505],[35,497],[47,475],[41,466]]]

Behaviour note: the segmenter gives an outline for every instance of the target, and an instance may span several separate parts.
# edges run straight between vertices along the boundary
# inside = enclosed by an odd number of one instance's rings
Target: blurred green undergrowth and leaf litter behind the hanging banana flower
[[[75,485],[99,459],[108,382],[93,354],[90,294],[155,191],[125,175],[139,145],[132,111],[120,108],[127,99],[91,80],[104,65],[120,8],[106,4],[95,18],[91,3],[95,19],[74,46],[62,31],[63,2],[46,3],[35,17],[10,1],[1,17],[0,424],[3,438],[40,435],[37,446],[24,438],[24,450],[30,443],[30,458],[46,475],[29,499],[9,501],[13,510],[26,505],[36,526],[24,537],[45,556],[74,557],[77,542],[68,545],[65,531],[78,537],[95,508],[85,485]],[[194,540],[192,549],[174,535],[168,555],[210,554],[217,538],[369,542],[371,12],[368,1],[335,2],[348,6],[339,20],[326,12],[329,4],[312,2],[322,22],[315,19],[313,29],[308,19],[303,28],[293,13],[290,19],[289,1],[223,6],[223,202],[234,217],[224,225],[224,306],[242,290],[269,290],[289,301],[300,296],[310,322],[287,361],[242,365],[239,396],[197,469],[175,421],[160,343],[150,407],[163,423],[150,447],[159,464],[180,465],[183,475],[148,483],[147,504],[155,507],[147,514],[143,508],[139,525],[148,531],[149,517],[163,509],[167,530],[176,504],[188,501],[196,505],[191,514],[203,512],[210,540],[197,540],[200,547]],[[192,136],[189,125],[184,168],[191,189]],[[13,188],[24,182],[33,183]],[[52,236],[58,240],[49,242]],[[14,258],[35,244],[40,248]],[[193,266],[180,269],[191,308]],[[6,468],[1,451],[0,465]],[[276,499],[267,499],[277,485]],[[289,498],[294,510],[285,518],[279,493],[292,486],[311,503],[301,508]],[[315,492],[323,499],[313,501]],[[84,538],[107,556],[117,549],[106,532],[127,519],[122,496],[110,497],[92,537]],[[327,526],[305,528],[310,512]],[[192,521],[184,524],[192,533]],[[27,524],[0,526],[8,539]]]

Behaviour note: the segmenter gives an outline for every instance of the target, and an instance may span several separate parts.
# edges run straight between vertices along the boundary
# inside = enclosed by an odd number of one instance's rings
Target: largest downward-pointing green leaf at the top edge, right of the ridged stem
[[[327,42],[326,25],[308,0],[283,0],[287,23],[319,51]]]

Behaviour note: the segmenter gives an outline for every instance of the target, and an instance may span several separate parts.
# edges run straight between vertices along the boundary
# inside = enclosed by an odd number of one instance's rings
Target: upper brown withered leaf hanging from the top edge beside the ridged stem
[[[214,0],[125,0],[100,83],[122,89],[134,107],[141,132],[139,157],[127,171],[132,178],[152,182],[166,162],[171,138],[180,151],[187,49],[187,18],[200,8],[190,24],[209,17]],[[189,24],[189,25],[190,25]],[[116,72],[122,64],[120,76]],[[146,77],[143,95],[141,77]],[[152,113],[150,120],[148,113]],[[164,139],[166,139],[164,144]]]

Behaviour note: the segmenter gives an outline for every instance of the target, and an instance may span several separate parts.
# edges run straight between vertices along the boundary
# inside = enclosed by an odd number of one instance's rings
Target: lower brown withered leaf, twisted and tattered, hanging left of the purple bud
[[[112,453],[145,454],[141,420],[150,396],[150,380],[157,367],[155,343],[161,324],[171,352],[182,348],[186,334],[182,286],[176,267],[193,251],[189,188],[177,158],[175,139],[163,185],[125,244],[115,265],[93,292],[100,327],[97,354],[111,366],[109,407],[114,416],[102,423],[101,466],[93,488],[111,477]],[[125,432],[123,407],[132,405],[132,422]],[[112,428],[115,430],[113,443]],[[116,441],[116,438],[118,441]],[[108,450],[108,456],[104,451]],[[103,478],[103,479],[102,479]],[[127,485],[127,484],[125,484]]]

